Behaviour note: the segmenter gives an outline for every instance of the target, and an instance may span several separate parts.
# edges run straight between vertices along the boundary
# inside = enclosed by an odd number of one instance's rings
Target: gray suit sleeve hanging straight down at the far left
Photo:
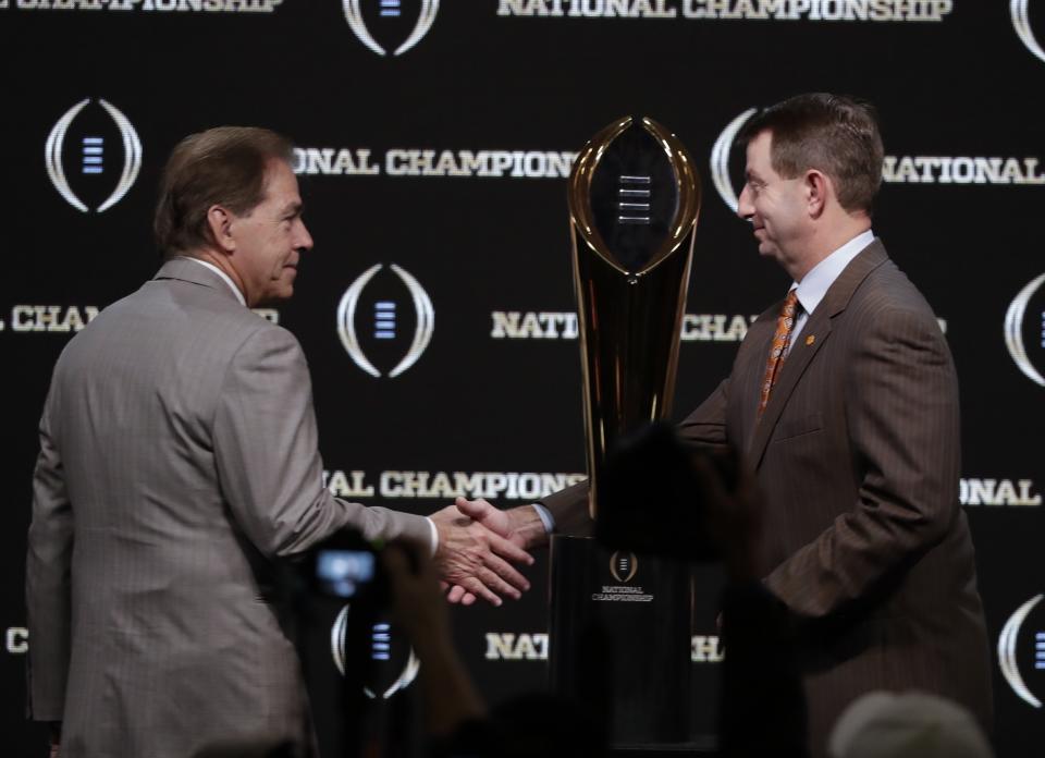
[[[61,721],[69,676],[71,639],[70,583],[73,510],[52,427],[57,382],[40,418],[40,453],[33,474],[33,521],[25,566],[28,613],[28,702],[37,721]]]

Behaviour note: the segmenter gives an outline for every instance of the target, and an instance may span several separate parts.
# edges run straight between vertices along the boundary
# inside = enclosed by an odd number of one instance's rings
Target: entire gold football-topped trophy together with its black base
[[[671,412],[700,185],[673,134],[625,117],[577,157],[568,199],[589,511],[601,536],[607,456]],[[657,516],[655,502],[637,508]],[[595,708],[615,747],[686,745],[689,567],[613,547],[552,538],[552,688]]]

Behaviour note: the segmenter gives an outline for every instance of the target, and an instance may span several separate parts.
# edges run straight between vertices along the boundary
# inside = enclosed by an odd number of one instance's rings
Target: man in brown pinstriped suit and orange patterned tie
[[[989,728],[958,382],[932,309],[871,232],[874,113],[802,95],[755,117],[746,142],[738,212],[795,283],[680,432],[741,451],[764,491],[758,568],[795,621],[812,753],[870,689],[937,693]],[[582,528],[585,500],[582,486],[546,498],[545,521]],[[520,545],[544,539],[533,508],[464,510]]]

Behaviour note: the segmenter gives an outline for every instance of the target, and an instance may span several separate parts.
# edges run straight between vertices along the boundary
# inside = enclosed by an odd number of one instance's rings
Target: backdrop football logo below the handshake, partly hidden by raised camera
[[[334,667],[345,675],[347,655],[345,635],[348,631],[348,613],[352,607],[346,604],[341,609],[337,618],[330,627],[330,653]],[[372,681],[366,682],[362,692],[371,699],[389,699],[401,689],[406,689],[417,678],[421,662],[414,653],[414,649],[406,644],[403,636],[391,624],[379,622],[371,626],[369,635],[369,650],[356,650],[374,662],[367,667],[371,672]]]

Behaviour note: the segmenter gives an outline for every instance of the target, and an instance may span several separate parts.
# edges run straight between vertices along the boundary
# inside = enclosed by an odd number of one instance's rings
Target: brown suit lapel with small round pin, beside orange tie
[[[779,377],[770,394],[770,402],[765,406],[761,420],[754,428],[751,443],[748,447],[748,460],[755,468],[762,463],[765,448],[773,436],[773,429],[784,413],[788,399],[795,391],[806,369],[813,357],[831,337],[834,318],[846,309],[852,294],[871,271],[888,260],[885,247],[878,240],[864,247],[856,258],[843,270],[827,290],[824,298],[810,314],[798,340],[791,345]]]

